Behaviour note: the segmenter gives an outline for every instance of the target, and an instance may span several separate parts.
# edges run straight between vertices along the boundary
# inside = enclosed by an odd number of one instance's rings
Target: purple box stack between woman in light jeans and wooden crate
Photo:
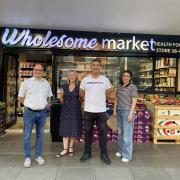
[[[135,111],[133,143],[150,142],[151,116],[144,104],[137,104]]]

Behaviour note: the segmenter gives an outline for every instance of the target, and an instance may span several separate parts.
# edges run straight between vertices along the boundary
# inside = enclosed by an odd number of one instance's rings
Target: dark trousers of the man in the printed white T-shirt
[[[107,116],[106,112],[84,112],[85,119],[85,152],[91,153],[94,122],[96,121],[99,131],[99,146],[101,153],[107,153]]]

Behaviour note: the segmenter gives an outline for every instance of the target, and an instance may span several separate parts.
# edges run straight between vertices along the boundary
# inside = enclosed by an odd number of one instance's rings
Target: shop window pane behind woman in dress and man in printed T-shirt
[[[57,57],[57,86],[67,82],[69,70],[76,70],[78,79],[81,81],[91,71],[91,61],[96,57],[85,56],[58,56]],[[101,73],[105,74],[115,88],[119,83],[121,61],[119,57],[98,57],[101,60]]]

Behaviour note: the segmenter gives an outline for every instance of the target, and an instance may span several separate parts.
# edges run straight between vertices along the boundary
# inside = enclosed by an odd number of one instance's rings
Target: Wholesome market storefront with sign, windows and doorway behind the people
[[[6,127],[22,117],[18,88],[32,76],[37,62],[44,65],[54,99],[69,69],[81,80],[97,57],[114,89],[121,72],[130,69],[140,96],[180,94],[180,36],[2,27],[0,38],[0,100],[6,102]]]

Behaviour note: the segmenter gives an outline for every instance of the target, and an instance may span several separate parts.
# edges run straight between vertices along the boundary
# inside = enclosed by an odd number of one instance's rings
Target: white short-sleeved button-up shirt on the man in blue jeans
[[[26,79],[20,86],[19,97],[24,97],[24,106],[33,110],[44,109],[47,105],[47,98],[51,97],[52,91],[49,82],[41,78],[32,77]]]

